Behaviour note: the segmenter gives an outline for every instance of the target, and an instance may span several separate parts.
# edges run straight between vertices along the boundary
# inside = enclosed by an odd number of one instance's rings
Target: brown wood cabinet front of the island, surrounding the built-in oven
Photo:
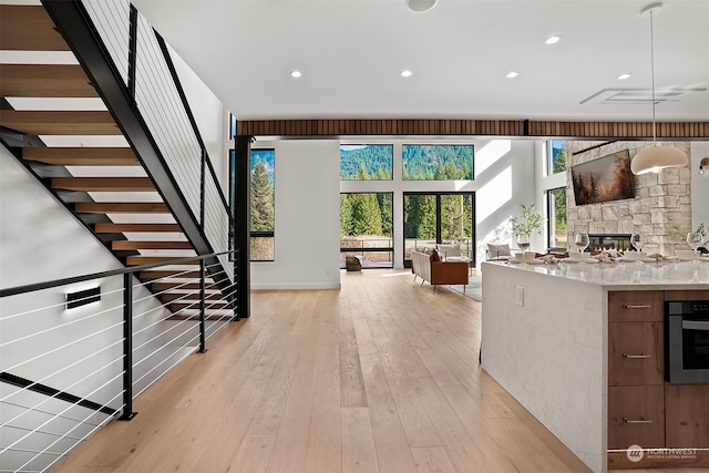
[[[665,300],[709,291],[608,292],[608,466],[637,467],[624,451],[709,448],[709,385],[665,381]],[[697,451],[701,452],[701,451]],[[644,467],[707,466],[709,459],[656,459]]]

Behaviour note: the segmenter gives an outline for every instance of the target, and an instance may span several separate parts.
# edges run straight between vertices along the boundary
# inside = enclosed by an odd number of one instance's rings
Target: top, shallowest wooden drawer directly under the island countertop
[[[664,301],[665,295],[661,290],[608,292],[608,321],[662,321]]]

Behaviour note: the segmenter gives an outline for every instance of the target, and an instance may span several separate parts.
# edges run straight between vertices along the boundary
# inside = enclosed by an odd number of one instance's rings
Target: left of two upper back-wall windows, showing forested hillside
[[[391,181],[392,145],[341,145],[340,179]]]

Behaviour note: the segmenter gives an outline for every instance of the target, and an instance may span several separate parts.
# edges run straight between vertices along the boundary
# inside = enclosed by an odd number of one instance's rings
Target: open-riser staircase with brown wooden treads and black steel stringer
[[[69,21],[76,17],[72,9],[70,1],[0,6],[0,140],[125,266],[228,249],[208,240],[204,216],[195,216],[165,162],[151,157],[160,152],[154,143],[153,150],[145,145],[136,107],[127,109],[137,122],[116,123],[126,104],[97,83],[116,79],[105,79],[105,71],[90,75],[85,58],[80,63],[59,32],[80,30]],[[68,18],[68,24],[55,24],[52,16]],[[228,258],[207,263],[207,307],[224,312],[232,306],[233,269]],[[199,271],[198,261],[183,261],[142,271],[140,278],[154,281],[156,297],[184,318],[199,307],[193,290]]]

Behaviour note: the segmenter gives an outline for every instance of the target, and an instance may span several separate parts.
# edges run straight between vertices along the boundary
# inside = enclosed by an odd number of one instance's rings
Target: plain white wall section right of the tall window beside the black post
[[[257,141],[276,150],[276,254],[251,263],[253,289],[339,289],[338,141]]]

